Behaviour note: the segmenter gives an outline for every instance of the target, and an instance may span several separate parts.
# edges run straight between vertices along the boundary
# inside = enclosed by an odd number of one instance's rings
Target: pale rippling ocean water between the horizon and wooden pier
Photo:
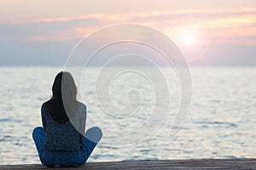
[[[62,69],[0,68],[0,164],[40,163],[31,133],[42,126],[40,107],[50,98],[54,77]],[[103,131],[88,161],[256,156],[255,67],[190,68],[190,111],[175,134],[172,122],[184,89],[172,68],[162,68],[166,86],[154,79],[159,75],[150,78],[132,69],[105,84],[102,80],[109,77],[101,77],[98,70],[88,68],[78,82],[79,99],[88,106],[86,129],[96,125]],[[160,98],[155,98],[157,93]]]

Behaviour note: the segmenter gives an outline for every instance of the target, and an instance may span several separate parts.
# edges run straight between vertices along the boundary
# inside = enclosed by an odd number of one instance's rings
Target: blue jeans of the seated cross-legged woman
[[[95,135],[97,135],[98,141],[102,138],[102,131],[99,127],[91,127],[87,132],[90,134],[96,132]],[[44,166],[54,167],[55,165],[59,165],[61,167],[77,167],[87,161],[97,144],[91,141],[90,138],[86,138],[86,133],[82,139],[79,151],[44,150],[45,135],[43,127],[35,127],[32,137],[36,144],[40,161]]]

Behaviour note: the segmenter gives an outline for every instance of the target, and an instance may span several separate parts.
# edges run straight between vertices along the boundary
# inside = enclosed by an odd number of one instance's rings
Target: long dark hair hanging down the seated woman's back
[[[76,114],[77,87],[69,72],[61,71],[52,86],[52,98],[46,104],[49,115],[55,122],[64,124]]]

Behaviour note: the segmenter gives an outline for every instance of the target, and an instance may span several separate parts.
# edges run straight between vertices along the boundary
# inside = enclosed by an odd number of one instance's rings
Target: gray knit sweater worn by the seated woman
[[[77,114],[64,124],[55,122],[46,110],[45,103],[41,107],[41,115],[45,133],[44,150],[80,149],[82,134],[86,120],[86,106],[78,102]],[[80,133],[79,133],[80,132]]]

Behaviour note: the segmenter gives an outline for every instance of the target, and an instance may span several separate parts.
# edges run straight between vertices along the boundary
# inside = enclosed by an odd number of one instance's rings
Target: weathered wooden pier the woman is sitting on
[[[53,169],[39,164],[0,165],[0,169]],[[58,167],[57,169],[256,169],[256,159],[195,159],[159,161],[102,161],[88,162],[80,167]]]

